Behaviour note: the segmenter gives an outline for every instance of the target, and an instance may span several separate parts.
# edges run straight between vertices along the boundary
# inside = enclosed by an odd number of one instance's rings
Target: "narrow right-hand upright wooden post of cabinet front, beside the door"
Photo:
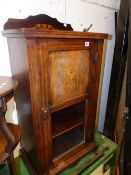
[[[100,73],[102,63],[103,52],[103,40],[97,41],[96,49],[93,51],[92,58],[90,60],[90,79],[89,79],[89,96],[87,109],[88,117],[87,124],[90,126],[86,128],[86,140],[92,142],[94,140],[95,121],[97,118],[97,105],[98,105],[98,92],[100,84]],[[100,94],[99,94],[100,95]]]

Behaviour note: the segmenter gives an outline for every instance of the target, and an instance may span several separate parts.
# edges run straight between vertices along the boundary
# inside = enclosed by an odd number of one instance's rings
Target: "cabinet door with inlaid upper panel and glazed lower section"
[[[89,144],[90,128],[94,125],[92,116],[95,120],[92,109],[96,108],[96,88],[93,86],[96,85],[97,43],[88,41],[85,46],[85,42],[50,40],[43,47],[53,158],[79,145]]]

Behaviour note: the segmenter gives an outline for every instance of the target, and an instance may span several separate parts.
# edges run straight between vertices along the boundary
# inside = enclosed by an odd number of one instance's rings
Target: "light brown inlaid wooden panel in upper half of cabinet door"
[[[49,52],[50,104],[59,105],[87,94],[89,50]]]

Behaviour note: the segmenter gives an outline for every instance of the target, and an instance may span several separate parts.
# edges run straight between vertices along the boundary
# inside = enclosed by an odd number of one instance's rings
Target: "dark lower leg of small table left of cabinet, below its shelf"
[[[7,163],[8,163],[8,166],[9,166],[10,174],[11,175],[17,175],[13,152],[10,153],[10,156],[7,159]]]

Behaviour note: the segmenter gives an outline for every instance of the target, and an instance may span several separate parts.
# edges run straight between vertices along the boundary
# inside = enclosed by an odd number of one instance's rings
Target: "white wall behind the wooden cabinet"
[[[45,13],[56,17],[61,22],[70,23],[74,30],[82,31],[90,24],[92,32],[111,34],[108,41],[104,82],[102,88],[99,130],[103,130],[106,111],[109,79],[114,48],[114,12],[119,8],[119,0],[1,0],[0,31],[8,18],[25,18],[29,15]],[[11,76],[6,38],[0,34],[0,75]],[[11,102],[12,104],[12,102]],[[10,106],[10,105],[9,105]],[[10,107],[9,107],[10,108]],[[12,121],[11,113],[8,118]]]

